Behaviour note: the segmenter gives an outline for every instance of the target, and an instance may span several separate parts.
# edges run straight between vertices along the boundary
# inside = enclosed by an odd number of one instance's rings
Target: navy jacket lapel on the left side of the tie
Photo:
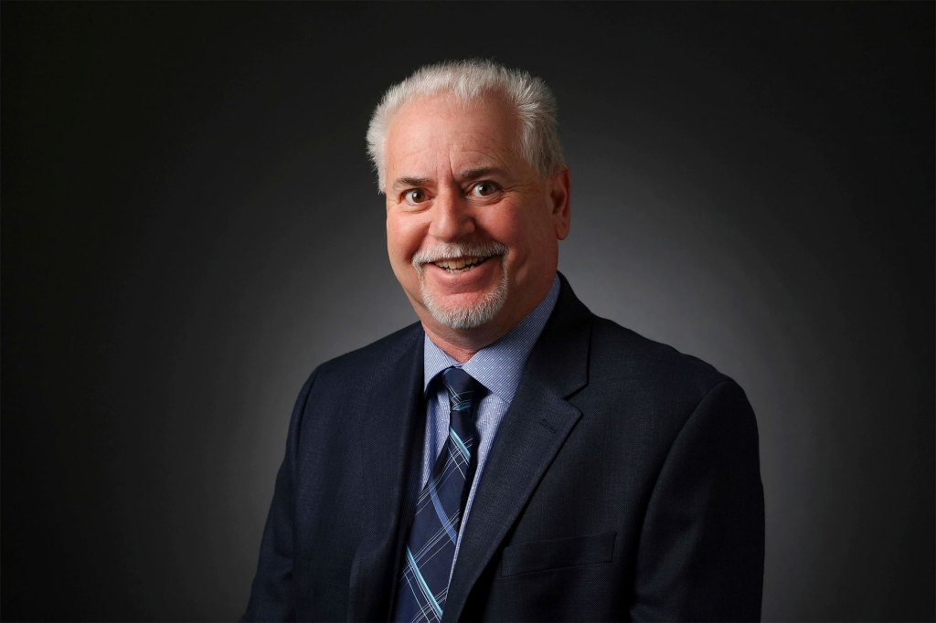
[[[413,506],[411,474],[425,421],[423,332],[418,326],[408,331],[399,351],[381,362],[359,418],[363,536],[351,567],[348,620],[388,618],[402,523]]]

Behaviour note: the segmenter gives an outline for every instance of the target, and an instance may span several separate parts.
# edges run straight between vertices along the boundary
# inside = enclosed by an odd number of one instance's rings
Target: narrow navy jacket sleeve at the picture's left
[[[289,422],[286,452],[276,474],[273,501],[260,543],[260,558],[251,588],[250,601],[241,621],[294,621],[296,601],[293,589],[293,518],[298,440],[306,402],[315,373],[302,386]]]

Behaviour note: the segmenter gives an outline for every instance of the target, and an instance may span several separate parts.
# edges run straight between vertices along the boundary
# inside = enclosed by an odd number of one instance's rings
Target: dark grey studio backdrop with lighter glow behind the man
[[[300,384],[415,319],[370,111],[468,55],[558,94],[578,296],[746,388],[764,617],[936,616],[932,3],[0,10],[4,618],[240,615]]]

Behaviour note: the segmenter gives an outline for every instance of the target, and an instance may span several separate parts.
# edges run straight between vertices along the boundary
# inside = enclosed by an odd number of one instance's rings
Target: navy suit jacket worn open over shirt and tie
[[[423,331],[303,386],[245,620],[386,620],[423,443]],[[444,620],[754,620],[764,497],[738,384],[562,291],[490,451]]]

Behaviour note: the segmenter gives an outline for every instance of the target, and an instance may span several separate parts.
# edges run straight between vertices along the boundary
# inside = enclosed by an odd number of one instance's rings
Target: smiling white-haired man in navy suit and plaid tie
[[[425,67],[368,143],[419,323],[302,388],[244,618],[759,618],[753,412],[556,272],[570,182],[546,85]]]

